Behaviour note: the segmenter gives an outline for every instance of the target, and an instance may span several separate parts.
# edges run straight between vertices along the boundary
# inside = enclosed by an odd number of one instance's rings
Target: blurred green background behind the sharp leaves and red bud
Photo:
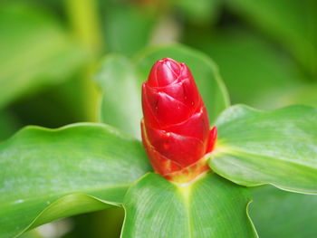
[[[109,53],[184,43],[218,65],[232,104],[317,107],[316,0],[2,0],[0,140],[33,124],[98,121],[93,75]],[[255,189],[260,237],[316,237],[316,196]],[[82,214],[24,237],[119,237],[123,210]]]

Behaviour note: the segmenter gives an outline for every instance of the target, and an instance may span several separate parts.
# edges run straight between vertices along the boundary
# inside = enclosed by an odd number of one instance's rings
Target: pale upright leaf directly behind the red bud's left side
[[[101,63],[95,80],[101,86],[100,120],[140,138],[141,83],[128,58],[110,55]]]

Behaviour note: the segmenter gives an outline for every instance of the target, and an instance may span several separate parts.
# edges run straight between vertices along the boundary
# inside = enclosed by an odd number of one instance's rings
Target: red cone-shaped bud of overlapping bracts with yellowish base
[[[209,169],[204,156],[216,141],[207,109],[185,63],[156,62],[142,85],[142,141],[154,170],[186,183]]]

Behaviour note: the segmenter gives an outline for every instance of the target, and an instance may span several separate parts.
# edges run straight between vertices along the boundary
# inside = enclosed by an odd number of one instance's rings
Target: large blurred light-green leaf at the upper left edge
[[[89,52],[56,17],[26,4],[0,4],[0,108],[65,81]]]

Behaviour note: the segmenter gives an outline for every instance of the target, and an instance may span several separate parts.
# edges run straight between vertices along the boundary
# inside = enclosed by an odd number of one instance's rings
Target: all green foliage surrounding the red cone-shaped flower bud
[[[101,237],[105,223],[120,226],[110,220],[124,209],[122,237],[256,237],[248,209],[261,237],[314,236],[316,196],[298,193],[317,190],[316,7],[313,0],[2,1],[0,236],[110,207],[76,216],[74,227]],[[163,57],[187,63],[218,127],[214,172],[191,186],[151,173],[139,141],[140,85]],[[228,94],[261,110],[229,107]],[[311,107],[279,109],[291,104]],[[43,237],[38,231],[21,237]]]

